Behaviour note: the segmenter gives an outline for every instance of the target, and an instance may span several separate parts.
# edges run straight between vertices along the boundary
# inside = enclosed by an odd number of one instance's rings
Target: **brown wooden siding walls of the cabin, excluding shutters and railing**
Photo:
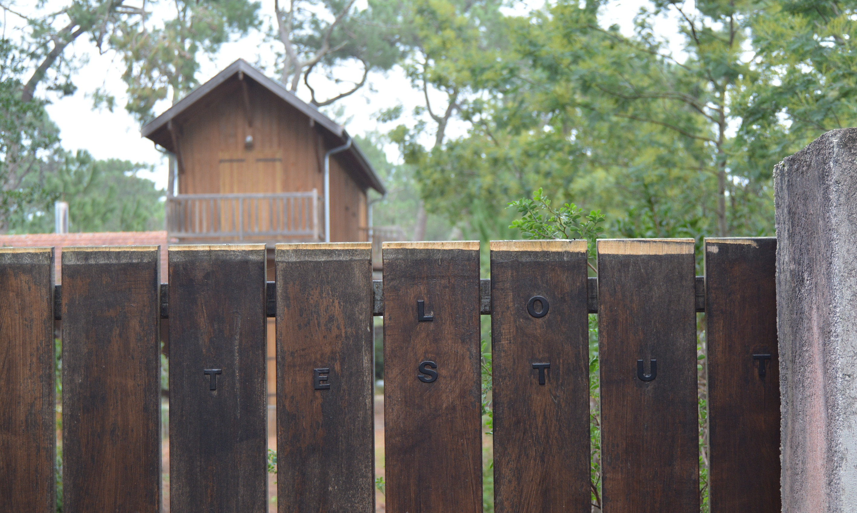
[[[247,80],[247,79],[245,79]],[[279,191],[303,192],[317,189],[323,194],[324,152],[337,143],[324,140],[309,117],[285,103],[254,81],[247,80],[250,118],[244,107],[241,83],[226,82],[201,100],[178,122],[179,152],[183,173],[179,175],[180,194],[225,194],[220,190],[220,158],[283,158]],[[253,136],[253,149],[244,148],[244,140]],[[273,166],[272,172],[273,172]],[[355,182],[339,156],[330,162],[331,241],[362,242],[367,233],[366,191]]]

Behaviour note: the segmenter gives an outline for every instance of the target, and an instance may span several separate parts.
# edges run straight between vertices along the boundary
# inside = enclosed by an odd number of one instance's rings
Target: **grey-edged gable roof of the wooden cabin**
[[[239,72],[243,73],[245,77],[255,81],[260,86],[265,87],[268,91],[273,92],[273,94],[277,95],[287,104],[290,104],[306,116],[309,116],[310,119],[315,121],[316,127],[320,127],[323,132],[327,133],[331,138],[333,138],[333,140],[338,142],[336,146],[345,145],[345,143],[351,139],[351,135],[345,131],[345,127],[337,124],[331,118],[322,114],[314,105],[310,105],[304,102],[301,98],[297,98],[297,96],[286,89],[283,84],[268,78],[264,73],[255,69],[243,59],[238,59],[236,62],[231,63],[219,74],[214,75],[211,80],[189,92],[187,96],[179,100],[177,104],[174,104],[169,109],[165,110],[163,114],[143,125],[143,128],[141,129],[142,136],[165,147],[167,151],[175,152],[175,149],[172,147],[172,139],[167,128],[168,123],[182,114],[185,110],[188,110],[193,104],[200,101],[202,98],[205,98],[208,93],[213,92],[214,89],[222,85],[225,81],[231,79],[232,76],[237,75]],[[354,164],[357,164],[357,169],[360,171],[359,174],[362,175],[360,178],[363,179],[363,182],[369,184],[369,187],[374,188],[381,194],[385,194],[387,192],[387,189],[384,188],[384,185],[381,183],[381,179],[375,173],[375,169],[372,167],[372,164],[369,164],[369,159],[366,158],[366,155],[360,150],[360,147],[357,146],[357,144],[352,142],[351,147],[345,152],[340,153],[340,155],[342,154],[351,157]]]

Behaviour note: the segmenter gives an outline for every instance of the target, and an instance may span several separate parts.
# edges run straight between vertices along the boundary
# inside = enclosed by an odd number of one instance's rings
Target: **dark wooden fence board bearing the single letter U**
[[[692,239],[598,242],[604,513],[699,509],[694,279]]]

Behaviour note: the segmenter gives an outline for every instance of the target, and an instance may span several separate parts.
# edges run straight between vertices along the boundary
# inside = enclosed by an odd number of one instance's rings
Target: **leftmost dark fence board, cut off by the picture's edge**
[[[0,248],[0,511],[56,511],[53,248]]]

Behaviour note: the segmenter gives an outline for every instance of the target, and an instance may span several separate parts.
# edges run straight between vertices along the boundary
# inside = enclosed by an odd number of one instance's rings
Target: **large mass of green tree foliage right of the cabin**
[[[773,166],[857,124],[854,3],[658,0],[631,35],[602,25],[615,5],[601,0],[484,20],[413,5],[418,34],[448,34],[415,39],[414,86],[446,92],[467,130],[423,146],[429,121],[442,133],[450,120],[427,104],[390,135],[429,212],[460,223],[478,206],[488,231],[506,225],[503,199],[543,187],[601,208],[608,236],[773,235]],[[666,13],[681,55],[654,28]]]

